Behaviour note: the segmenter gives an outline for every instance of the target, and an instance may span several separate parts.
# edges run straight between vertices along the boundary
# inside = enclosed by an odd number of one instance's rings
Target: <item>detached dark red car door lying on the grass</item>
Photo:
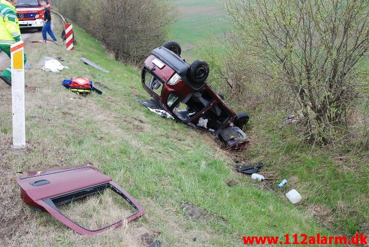
[[[15,180],[20,186],[24,203],[47,211],[64,225],[82,235],[95,235],[109,228],[116,228],[124,222],[130,222],[145,214],[140,204],[112,179],[87,164],[83,166],[55,167],[48,170],[23,171],[22,177]],[[90,195],[100,195],[109,190],[117,193],[122,200],[128,202],[134,213],[126,219],[98,230],[87,230],[67,216],[63,215],[59,206],[75,202]]]

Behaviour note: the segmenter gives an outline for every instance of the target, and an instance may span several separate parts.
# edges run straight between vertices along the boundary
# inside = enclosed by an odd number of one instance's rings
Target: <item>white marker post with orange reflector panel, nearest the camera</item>
[[[13,148],[25,147],[23,47],[24,43],[22,40],[10,46]]]

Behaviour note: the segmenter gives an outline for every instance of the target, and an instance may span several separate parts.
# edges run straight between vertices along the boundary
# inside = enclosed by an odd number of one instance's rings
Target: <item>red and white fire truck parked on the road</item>
[[[43,27],[44,8],[41,5],[43,0],[18,0],[16,3],[16,16],[19,19],[19,28],[37,28],[39,31]],[[49,1],[46,1],[50,9]]]

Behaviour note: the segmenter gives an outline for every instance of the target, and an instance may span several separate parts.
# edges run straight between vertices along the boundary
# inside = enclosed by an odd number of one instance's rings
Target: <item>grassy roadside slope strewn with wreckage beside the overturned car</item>
[[[266,141],[254,139],[247,153],[250,162],[268,161],[262,171],[271,180],[258,183],[236,173],[233,157],[219,149],[211,135],[154,115],[133,100],[148,99],[138,71],[109,58],[77,26],[74,33],[78,43],[73,52],[62,46],[26,44],[30,63],[35,64],[42,56],[61,56],[65,60],[63,65],[69,69],[58,74],[42,70],[25,72],[26,115],[43,116],[51,121],[27,118],[29,146],[24,151],[9,148],[11,98],[9,88],[0,84],[0,195],[6,205],[1,210],[5,227],[0,242],[4,246],[146,246],[143,234],[160,239],[163,246],[243,246],[242,236],[334,235],[334,231],[315,223],[312,213],[305,211],[305,203],[311,198],[304,193],[309,194],[312,185],[302,182],[305,187],[301,187],[299,183],[300,176],[320,164],[320,158],[301,155],[304,164],[310,163],[312,167],[302,166],[295,175],[298,179],[290,180],[290,187],[276,189],[278,181],[295,173],[289,168],[293,161],[286,160],[288,148],[285,153],[273,153],[284,146],[278,143],[284,136],[276,134],[277,140],[272,142],[275,149],[260,153]],[[79,61],[82,56],[111,72],[84,65]],[[62,80],[78,76],[100,82],[103,86],[98,83],[95,86],[104,94],[82,97],[60,86]],[[256,133],[262,127],[254,125],[248,132],[258,138]],[[272,161],[281,168],[277,172]],[[147,214],[126,228],[86,237],[47,213],[34,212],[20,200],[14,172],[86,163],[111,176],[141,203]],[[327,177],[332,178],[332,174]],[[236,185],[227,186],[229,180]],[[314,183],[320,181],[318,177]],[[293,206],[285,198],[284,193],[292,188],[300,189],[304,204]],[[344,185],[335,189],[344,189]],[[367,199],[361,200],[365,205]],[[183,208],[185,204],[197,205],[206,216],[189,217]],[[154,230],[163,233],[158,236],[153,234]]]

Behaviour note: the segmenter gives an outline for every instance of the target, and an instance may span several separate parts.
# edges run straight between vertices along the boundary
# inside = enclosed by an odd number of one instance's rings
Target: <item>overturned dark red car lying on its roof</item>
[[[242,128],[249,116],[236,115],[206,82],[209,65],[205,61],[189,65],[180,54],[179,44],[169,41],[152,50],[145,60],[142,85],[152,96],[151,101],[175,120],[214,134],[225,149],[244,147],[249,139]]]

